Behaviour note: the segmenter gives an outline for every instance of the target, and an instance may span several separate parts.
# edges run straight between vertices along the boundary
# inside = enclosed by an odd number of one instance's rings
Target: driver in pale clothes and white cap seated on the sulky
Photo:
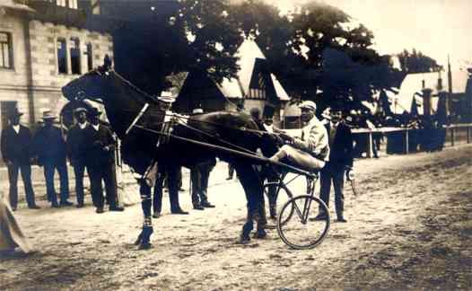
[[[290,137],[282,134],[288,143],[274,154],[270,161],[279,162],[283,159],[288,163],[310,171],[319,171],[328,162],[329,145],[328,132],[321,121],[315,116],[316,104],[313,101],[303,101],[302,137]]]

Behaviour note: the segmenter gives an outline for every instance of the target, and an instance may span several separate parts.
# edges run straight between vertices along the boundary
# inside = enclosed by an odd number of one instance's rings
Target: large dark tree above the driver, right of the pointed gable
[[[336,101],[362,107],[374,91],[398,84],[389,56],[371,45],[373,34],[363,24],[350,28],[350,17],[336,7],[311,2],[293,14],[293,49],[304,57],[305,98],[321,89],[326,105]]]

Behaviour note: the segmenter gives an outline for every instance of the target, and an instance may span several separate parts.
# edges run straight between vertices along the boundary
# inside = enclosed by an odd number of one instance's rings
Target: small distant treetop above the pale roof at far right
[[[402,71],[406,73],[428,73],[439,72],[442,66],[438,65],[435,59],[425,56],[421,51],[412,49],[411,53],[404,49],[398,54],[398,60]]]

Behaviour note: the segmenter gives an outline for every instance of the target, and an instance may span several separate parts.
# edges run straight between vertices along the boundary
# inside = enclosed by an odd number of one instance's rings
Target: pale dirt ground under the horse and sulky
[[[154,220],[148,251],[132,244],[139,205],[103,215],[21,209],[15,215],[39,251],[0,258],[0,290],[471,290],[472,146],[354,166],[360,194],[346,185],[348,223],[333,221],[308,251],[291,250],[275,231],[235,243],[245,198],[239,183],[224,181],[223,163],[209,190],[217,207]],[[188,192],[181,200],[189,209]]]

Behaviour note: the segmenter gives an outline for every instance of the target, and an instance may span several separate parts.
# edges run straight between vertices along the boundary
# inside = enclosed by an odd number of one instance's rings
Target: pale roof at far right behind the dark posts
[[[438,79],[440,76],[442,79],[442,89],[438,86]],[[452,71],[451,79],[452,93],[466,93],[466,87],[468,83],[467,71]],[[432,108],[433,110],[436,110],[438,93],[440,91],[449,92],[449,80],[447,72],[415,73],[406,75],[400,86],[398,94],[394,95],[388,93],[389,99],[392,102],[390,109],[394,113],[403,113],[404,110],[409,112],[411,110],[411,103],[414,96],[418,105],[423,104],[423,98],[421,98],[423,81],[424,88],[429,88],[432,90]],[[423,114],[422,106],[419,106],[418,112]]]

